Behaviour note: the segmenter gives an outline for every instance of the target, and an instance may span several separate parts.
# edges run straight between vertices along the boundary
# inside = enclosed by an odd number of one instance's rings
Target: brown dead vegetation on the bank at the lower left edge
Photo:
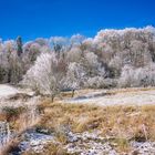
[[[39,122],[39,115],[35,111],[21,107],[4,107],[2,114],[0,114],[0,121],[8,121],[10,128],[7,136],[13,131],[13,136],[9,137],[9,141],[0,144],[0,155],[9,155],[18,149],[19,143],[22,141],[22,134],[33,127]],[[1,140],[2,141],[2,140]]]

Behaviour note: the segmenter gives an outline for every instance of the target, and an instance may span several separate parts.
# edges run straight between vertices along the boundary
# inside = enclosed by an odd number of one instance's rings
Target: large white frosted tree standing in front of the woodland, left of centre
[[[22,81],[39,94],[48,94],[52,101],[62,86],[63,69],[54,53],[42,53]]]

